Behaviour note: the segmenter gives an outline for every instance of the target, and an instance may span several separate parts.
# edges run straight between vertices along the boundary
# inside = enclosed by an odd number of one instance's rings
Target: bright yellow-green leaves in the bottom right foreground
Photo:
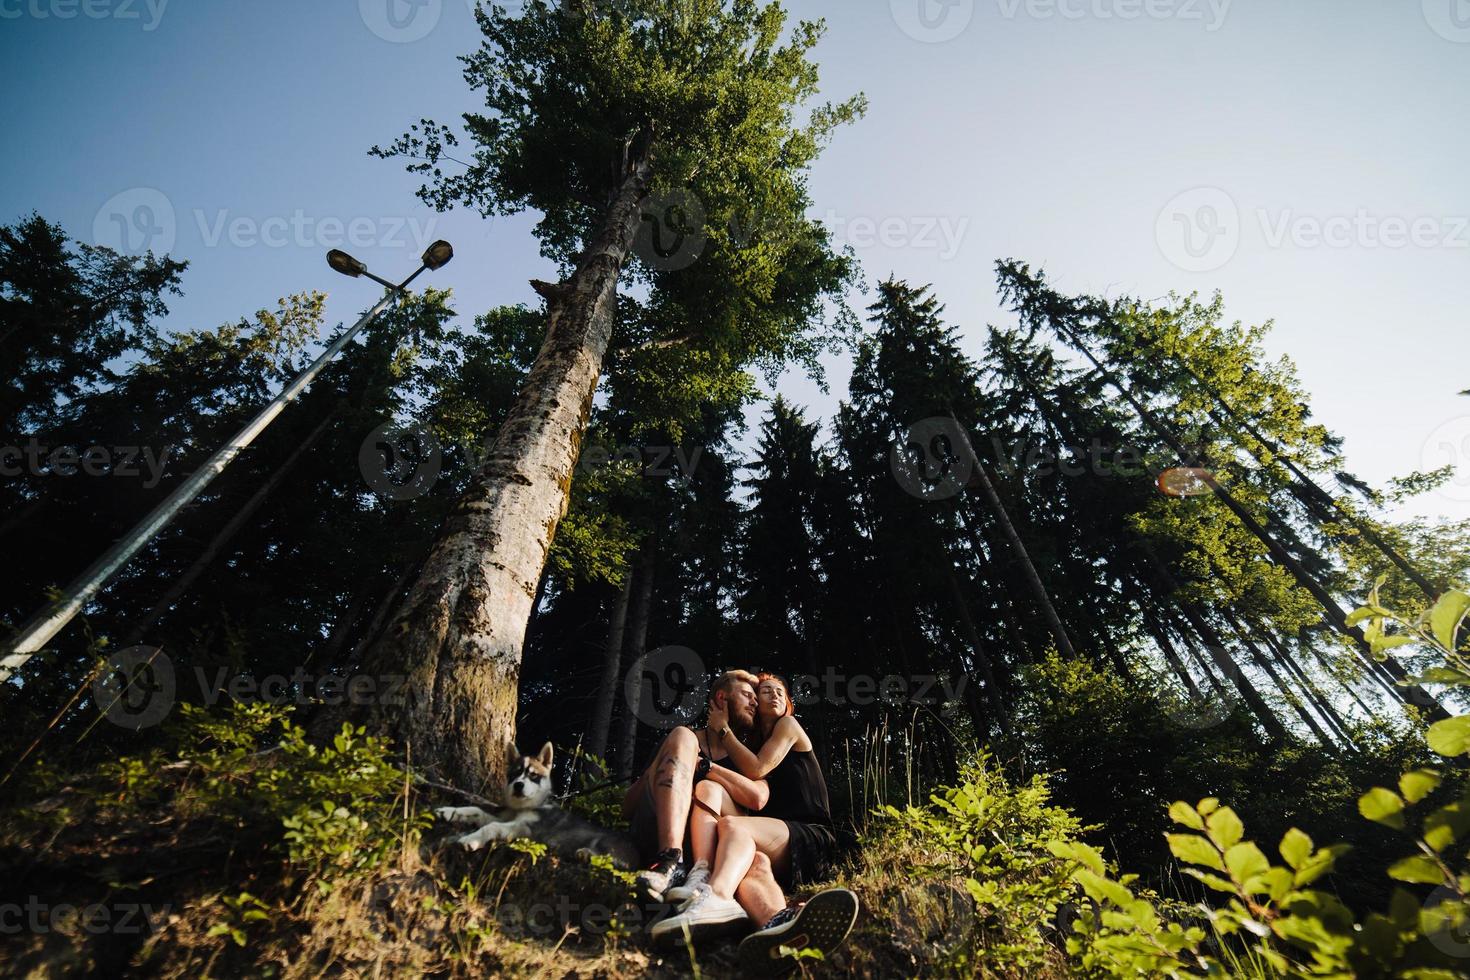
[[[1461,685],[1460,632],[1470,610],[1464,592],[1449,591],[1419,617],[1396,616],[1379,602],[1377,588],[1369,604],[1354,611],[1354,621],[1376,649],[1396,636],[1438,646],[1448,661],[1423,682]],[[1388,627],[1398,626],[1396,632]],[[1460,755],[1470,745],[1460,738],[1464,717],[1441,721],[1429,743],[1441,755]],[[1298,829],[1288,830],[1276,851],[1280,864],[1252,840],[1245,826],[1219,799],[1197,805],[1175,802],[1170,820],[1183,832],[1166,835],[1169,849],[1185,874],[1211,892],[1227,896],[1222,905],[1204,905],[1214,949],[1204,930],[1166,923],[1152,904],[1127,889],[1127,879],[1110,879],[1100,857],[1085,845],[1055,848],[1075,861],[1073,877],[1097,902],[1067,939],[1067,949],[1091,973],[1114,977],[1230,976],[1227,964],[1260,964],[1264,976],[1280,977],[1410,977],[1432,980],[1464,976],[1463,942],[1455,939],[1470,924],[1470,868],[1464,837],[1470,833],[1470,788],[1454,780],[1458,796],[1444,802],[1446,776],[1416,768],[1398,779],[1396,789],[1374,786],[1358,799],[1367,820],[1407,836],[1416,854],[1394,861],[1385,873],[1407,886],[1432,886],[1424,896],[1395,887],[1385,912],[1358,918],[1333,893],[1313,887],[1347,852],[1345,845],[1319,848]],[[1435,801],[1421,818],[1420,804]],[[1414,817],[1411,823],[1411,817]]]

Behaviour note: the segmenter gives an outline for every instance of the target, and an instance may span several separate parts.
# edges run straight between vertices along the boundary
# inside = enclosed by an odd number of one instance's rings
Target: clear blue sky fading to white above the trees
[[[972,353],[1007,322],[997,257],[1076,291],[1219,288],[1232,316],[1276,320],[1272,353],[1363,476],[1457,461],[1411,511],[1470,517],[1470,3],[788,7],[829,24],[828,94],[872,101],[811,184],[870,281],[935,284]],[[467,0],[0,0],[0,220],[172,237],[191,263],[175,328],[312,288],[351,319],[376,294],[326,269],[340,239],[394,275],[448,238],[432,282],[466,316],[534,303],[529,219],[435,215],[366,156],[473,106],[456,54],[476,40]],[[844,364],[832,381],[781,388],[825,416]]]

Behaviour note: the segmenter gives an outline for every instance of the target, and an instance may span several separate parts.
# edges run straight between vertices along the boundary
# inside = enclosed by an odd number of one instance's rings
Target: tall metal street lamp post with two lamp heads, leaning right
[[[347,276],[368,276],[373,282],[382,285],[387,292],[376,306],[373,306],[368,313],[362,316],[353,326],[332,341],[331,347],[322,351],[322,356],[312,361],[312,366],[297,375],[290,385],[281,389],[270,404],[260,410],[260,413],[251,419],[244,429],[237,432],[229,442],[222,445],[215,455],[209,457],[203,466],[200,466],[194,473],[184,480],[178,489],[169,494],[168,500],[153,508],[153,511],[144,517],[138,525],[129,530],[126,535],[119,538],[112,548],[109,548],[97,561],[88,567],[81,577],[72,582],[66,591],[62,594],[56,602],[53,602],[46,610],[37,613],[26,626],[6,645],[7,652],[3,660],[0,660],[0,683],[4,683],[10,676],[19,670],[31,657],[34,657],[47,641],[50,641],[56,633],[62,630],[66,623],[72,620],[76,613],[82,610],[87,602],[91,601],[97,592],[101,591],[104,585],[118,573],[122,566],[138,554],[143,545],[157,535],[173,517],[198,494],[209,486],[210,480],[219,476],[226,466],[229,466],[241,450],[248,447],[257,435],[260,435],[268,425],[270,425],[278,414],[281,414],[285,407],[295,400],[301,391],[312,383],[326,364],[337,357],[344,347],[357,335],[357,332],[372,322],[375,316],[388,309],[388,304],[403,295],[409,284],[419,278],[425,269],[440,269],[450,259],[454,257],[454,248],[447,241],[437,241],[425,250],[419,267],[412,276],[400,284],[388,282],[381,279],[370,272],[368,266],[362,262],[353,259],[345,251],[332,250],[326,254],[328,264],[337,272]]]

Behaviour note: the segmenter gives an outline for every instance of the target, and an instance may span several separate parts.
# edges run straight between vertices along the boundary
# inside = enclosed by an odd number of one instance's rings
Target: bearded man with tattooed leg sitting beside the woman
[[[736,739],[750,738],[756,730],[756,674],[728,670],[710,685],[710,710],[726,717]],[[709,739],[679,726],[664,736],[648,768],[634,780],[623,796],[623,815],[634,840],[650,865],[638,874],[638,890],[656,902],[664,892],[681,883],[684,874],[684,842],[694,802],[694,783],[709,779],[719,783],[735,804],[745,810],[760,810],[769,799],[764,780],[745,779],[719,746],[720,739]]]

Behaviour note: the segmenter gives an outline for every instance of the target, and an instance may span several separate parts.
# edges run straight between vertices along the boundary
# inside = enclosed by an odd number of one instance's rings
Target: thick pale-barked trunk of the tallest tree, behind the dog
[[[416,764],[469,789],[498,786],[516,727],[526,623],[566,514],[617,276],[638,231],[651,165],[632,160],[572,275],[532,282],[547,336],[469,489],[365,669],[406,676],[407,696],[369,720],[412,743]]]

